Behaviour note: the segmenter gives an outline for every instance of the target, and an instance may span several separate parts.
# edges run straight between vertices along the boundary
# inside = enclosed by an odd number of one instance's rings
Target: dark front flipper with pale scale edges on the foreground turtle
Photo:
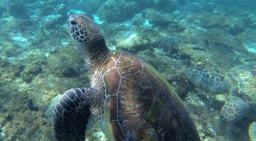
[[[91,88],[75,88],[59,98],[52,115],[57,140],[85,140],[91,93]]]

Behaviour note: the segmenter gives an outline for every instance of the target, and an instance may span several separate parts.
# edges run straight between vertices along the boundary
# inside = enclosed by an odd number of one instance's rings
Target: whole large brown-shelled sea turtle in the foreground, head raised
[[[70,89],[58,99],[57,140],[85,140],[90,115],[109,140],[200,140],[177,93],[147,61],[109,51],[84,14],[69,16],[68,28],[91,73],[91,88]]]

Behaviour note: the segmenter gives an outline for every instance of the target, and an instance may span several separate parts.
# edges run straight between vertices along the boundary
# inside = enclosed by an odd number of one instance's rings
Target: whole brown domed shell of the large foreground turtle
[[[200,140],[177,94],[147,61],[116,51],[101,73],[109,140]]]

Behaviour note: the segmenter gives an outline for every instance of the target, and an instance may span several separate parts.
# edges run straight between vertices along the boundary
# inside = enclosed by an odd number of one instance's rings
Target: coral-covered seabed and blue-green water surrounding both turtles
[[[168,80],[201,140],[250,140],[256,115],[221,122],[229,93],[197,89],[182,68],[223,79],[234,66],[255,62],[255,7],[252,0],[1,1],[0,140],[54,140],[45,114],[49,103],[66,90],[89,87],[84,59],[67,28],[68,16],[77,13],[95,21],[111,51],[147,59]],[[37,111],[28,108],[29,99]],[[97,123],[90,124],[87,140],[107,140]]]

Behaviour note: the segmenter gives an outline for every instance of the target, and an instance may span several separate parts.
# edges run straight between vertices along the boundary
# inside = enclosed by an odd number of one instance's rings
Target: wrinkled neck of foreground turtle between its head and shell
[[[101,69],[102,65],[112,56],[112,52],[109,51],[105,44],[103,36],[97,41],[88,41],[79,45],[78,49],[82,52],[85,65],[91,75],[94,74],[95,70]]]

